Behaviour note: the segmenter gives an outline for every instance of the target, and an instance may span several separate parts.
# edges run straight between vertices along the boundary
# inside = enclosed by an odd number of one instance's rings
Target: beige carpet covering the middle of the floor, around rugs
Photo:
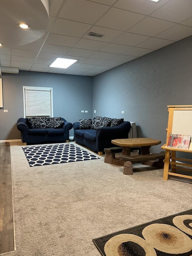
[[[192,208],[190,179],[134,164],[134,175],[100,160],[29,167],[11,143],[19,256],[99,256],[93,238]],[[180,180],[180,181],[178,181]]]

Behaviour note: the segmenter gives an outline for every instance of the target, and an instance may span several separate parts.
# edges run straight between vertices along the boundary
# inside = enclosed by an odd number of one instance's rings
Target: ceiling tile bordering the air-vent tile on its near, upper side
[[[118,19],[117,19],[118,17]],[[117,29],[126,31],[137,22],[145,18],[146,16],[136,14],[133,12],[111,8],[97,23],[97,26],[102,26],[110,29]]]

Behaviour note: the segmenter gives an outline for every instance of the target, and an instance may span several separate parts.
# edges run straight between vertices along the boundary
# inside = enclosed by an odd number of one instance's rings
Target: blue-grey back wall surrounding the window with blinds
[[[4,108],[0,108],[0,140],[20,139],[16,122],[23,117],[23,86],[52,87],[54,117],[61,116],[71,123],[92,117],[92,77],[19,71],[19,74],[3,74],[2,81]]]

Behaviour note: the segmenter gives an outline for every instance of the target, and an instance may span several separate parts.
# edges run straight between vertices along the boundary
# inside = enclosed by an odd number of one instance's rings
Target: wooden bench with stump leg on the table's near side
[[[165,152],[152,153],[148,155],[122,155],[122,160],[125,161],[123,174],[132,175],[133,174],[133,164],[132,162],[141,162],[142,164],[154,166],[158,168],[164,167]],[[154,160],[159,161],[154,161]]]

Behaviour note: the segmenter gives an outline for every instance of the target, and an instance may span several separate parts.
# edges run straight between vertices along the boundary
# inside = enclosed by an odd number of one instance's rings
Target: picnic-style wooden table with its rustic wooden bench
[[[112,140],[111,143],[122,147],[121,161],[117,163],[116,158],[113,157],[114,160],[111,161],[111,163],[124,165],[124,169],[123,169],[124,174],[133,174],[132,162],[142,161],[142,164],[151,165],[149,161],[153,161],[155,159],[159,159],[159,160],[161,159],[161,163],[163,164],[163,159],[165,155],[164,152],[161,152],[158,154],[156,153],[150,154],[150,147],[159,145],[161,143],[161,140],[155,140],[151,138],[132,138],[132,139],[116,139],[116,140]],[[141,155],[131,156],[131,147],[141,147]]]

